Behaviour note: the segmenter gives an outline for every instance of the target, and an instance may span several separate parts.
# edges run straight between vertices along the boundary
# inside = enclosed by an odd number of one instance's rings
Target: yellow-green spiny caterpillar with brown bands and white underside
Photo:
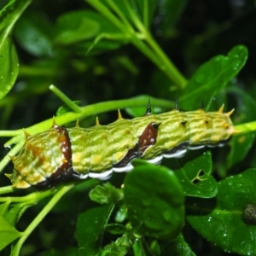
[[[11,157],[14,172],[5,174],[13,187],[38,189],[70,179],[108,179],[112,172],[128,172],[131,160],[160,164],[163,157],[182,157],[187,149],[223,146],[236,131],[231,113],[205,112],[202,108],[181,112],[146,113],[135,119],[118,119],[109,125],[63,128],[53,122],[48,131],[26,135],[20,153]]]

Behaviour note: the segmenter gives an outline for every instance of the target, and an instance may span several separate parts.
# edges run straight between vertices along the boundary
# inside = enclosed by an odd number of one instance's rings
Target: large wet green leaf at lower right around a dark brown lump
[[[253,255],[256,229],[254,224],[243,221],[243,211],[255,204],[255,179],[256,169],[248,169],[220,181],[216,199],[189,198],[189,224],[224,251]]]

